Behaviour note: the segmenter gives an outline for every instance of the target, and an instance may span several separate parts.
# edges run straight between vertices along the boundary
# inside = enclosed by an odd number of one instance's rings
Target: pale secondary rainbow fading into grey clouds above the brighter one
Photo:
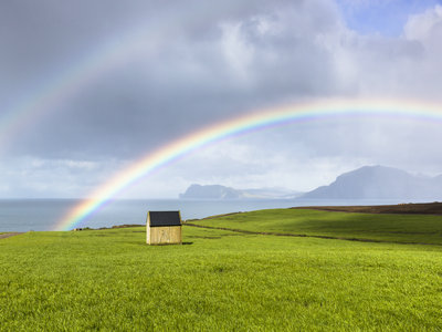
[[[236,7],[233,7],[234,10]],[[238,4],[240,8],[240,4]],[[199,17],[197,12],[186,15],[181,24],[192,29],[204,29],[218,12]],[[154,25],[152,25],[154,24]],[[124,68],[131,61],[149,59],[170,43],[181,25],[170,21],[143,21],[128,27],[126,31],[110,34],[98,45],[86,49],[65,66],[45,73],[38,84],[24,90],[14,102],[3,105],[0,116],[0,149],[28,126],[34,125],[51,112],[61,110],[63,103],[106,73]]]

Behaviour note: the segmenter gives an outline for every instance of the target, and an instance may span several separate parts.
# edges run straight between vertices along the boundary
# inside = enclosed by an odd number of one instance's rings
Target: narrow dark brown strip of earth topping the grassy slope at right
[[[398,204],[376,206],[303,206],[294,209],[315,209],[359,214],[442,215],[442,203]]]

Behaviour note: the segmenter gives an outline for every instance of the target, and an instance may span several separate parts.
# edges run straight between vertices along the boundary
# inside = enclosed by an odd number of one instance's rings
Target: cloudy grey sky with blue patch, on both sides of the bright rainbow
[[[328,98],[442,105],[442,1],[0,2],[0,198],[87,197],[209,125]],[[442,111],[441,111],[442,112]],[[231,137],[118,194],[312,190],[385,165],[442,174],[442,123],[336,116]]]

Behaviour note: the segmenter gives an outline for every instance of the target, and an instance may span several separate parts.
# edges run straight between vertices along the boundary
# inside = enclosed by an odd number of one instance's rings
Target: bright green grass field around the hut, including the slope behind
[[[273,217],[271,211],[256,211],[198,224],[382,237],[375,224],[390,230],[385,239],[394,241],[425,232],[415,235],[421,242],[436,242],[442,228],[442,217],[414,216],[412,221],[373,215],[368,222],[368,217],[345,214],[339,224],[340,216],[273,210]],[[183,226],[183,241],[147,246],[141,227],[28,232],[1,239],[0,330],[442,328],[441,246],[246,235],[190,226]]]

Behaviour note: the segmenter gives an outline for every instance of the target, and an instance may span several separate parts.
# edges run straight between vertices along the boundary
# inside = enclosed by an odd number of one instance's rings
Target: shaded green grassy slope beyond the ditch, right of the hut
[[[442,245],[442,216],[272,209],[203,219],[194,224],[251,231]]]

